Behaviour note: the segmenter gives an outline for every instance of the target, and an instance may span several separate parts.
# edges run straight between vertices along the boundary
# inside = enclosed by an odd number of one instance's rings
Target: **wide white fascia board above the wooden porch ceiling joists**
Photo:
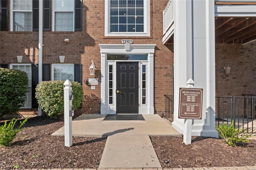
[[[215,16],[256,16],[256,5],[215,5]]]

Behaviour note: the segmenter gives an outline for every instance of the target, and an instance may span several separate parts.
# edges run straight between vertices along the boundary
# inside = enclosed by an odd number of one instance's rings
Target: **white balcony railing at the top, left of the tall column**
[[[163,11],[163,34],[165,34],[170,26],[172,26],[173,22],[173,0],[169,0],[166,8]]]

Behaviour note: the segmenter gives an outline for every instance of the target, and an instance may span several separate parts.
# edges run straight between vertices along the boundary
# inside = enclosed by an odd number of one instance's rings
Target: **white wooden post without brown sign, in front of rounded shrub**
[[[66,80],[64,85],[64,137],[65,146],[70,147],[72,146],[72,116],[70,116],[70,107],[72,106],[72,100],[70,100],[72,84],[69,80]]]

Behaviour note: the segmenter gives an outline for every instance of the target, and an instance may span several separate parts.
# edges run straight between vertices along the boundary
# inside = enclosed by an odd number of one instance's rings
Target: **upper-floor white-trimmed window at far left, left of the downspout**
[[[12,0],[13,31],[32,31],[32,0]]]

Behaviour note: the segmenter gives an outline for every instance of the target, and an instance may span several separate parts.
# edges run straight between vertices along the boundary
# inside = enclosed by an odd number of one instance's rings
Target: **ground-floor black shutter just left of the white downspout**
[[[36,85],[38,85],[38,64],[32,64],[32,108],[38,108],[36,100]]]

